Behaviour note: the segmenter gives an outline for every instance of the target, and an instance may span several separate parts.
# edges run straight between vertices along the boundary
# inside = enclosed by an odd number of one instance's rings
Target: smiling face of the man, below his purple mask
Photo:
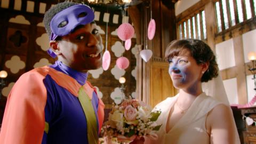
[[[95,23],[78,26],[62,36],[59,60],[77,71],[98,69],[102,65],[102,39]]]

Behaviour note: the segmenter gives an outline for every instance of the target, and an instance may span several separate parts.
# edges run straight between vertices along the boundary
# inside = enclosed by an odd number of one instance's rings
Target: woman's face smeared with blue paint
[[[169,59],[169,74],[175,88],[189,89],[201,84],[202,65],[196,63],[189,50],[183,49]]]

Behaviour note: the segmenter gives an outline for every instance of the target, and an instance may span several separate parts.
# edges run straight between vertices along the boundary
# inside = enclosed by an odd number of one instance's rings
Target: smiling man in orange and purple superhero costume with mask
[[[6,103],[0,143],[98,143],[104,104],[86,81],[102,64],[102,39],[87,5],[63,2],[45,13],[47,51],[58,60],[23,74]]]

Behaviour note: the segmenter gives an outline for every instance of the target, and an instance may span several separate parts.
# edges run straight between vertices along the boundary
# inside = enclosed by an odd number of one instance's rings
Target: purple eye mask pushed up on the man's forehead
[[[94,20],[94,13],[87,5],[73,5],[57,13],[51,20],[52,35],[50,40],[58,36],[65,36],[73,31],[78,25],[86,25]]]

